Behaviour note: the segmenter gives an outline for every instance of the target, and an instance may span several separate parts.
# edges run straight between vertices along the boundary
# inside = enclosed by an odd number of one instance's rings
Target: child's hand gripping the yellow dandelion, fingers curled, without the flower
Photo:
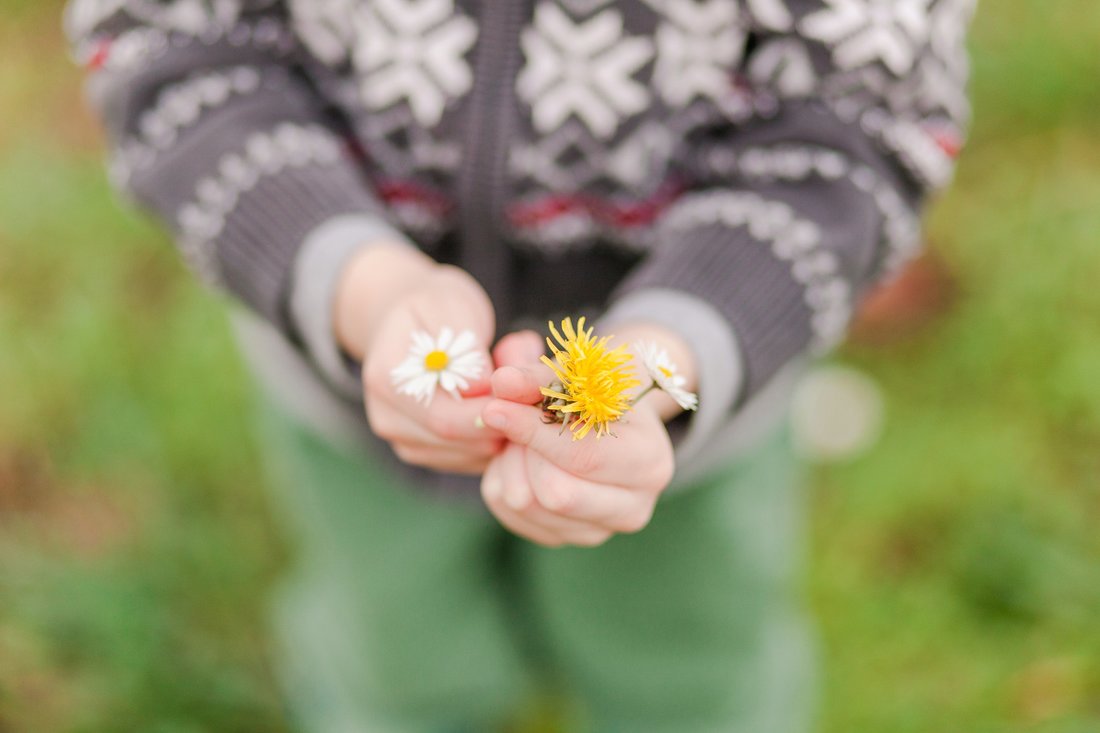
[[[539,387],[551,380],[537,363],[493,374],[497,398],[482,419],[510,442],[482,478],[485,504],[514,533],[548,547],[592,547],[642,529],[674,468],[657,408],[642,400],[615,424],[615,437],[574,441],[542,419]]]

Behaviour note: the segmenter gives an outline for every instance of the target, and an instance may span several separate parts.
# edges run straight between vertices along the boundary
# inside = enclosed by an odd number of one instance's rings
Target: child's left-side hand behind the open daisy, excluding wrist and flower
[[[441,329],[469,329],[475,349],[485,353],[486,368],[480,379],[462,391],[462,400],[437,390],[425,405],[398,394],[393,369],[409,351],[411,335]],[[403,461],[437,471],[482,473],[501,452],[505,438],[486,429],[479,419],[490,396],[488,347],[494,316],[488,296],[477,282],[455,267],[436,266],[386,308],[371,329],[363,361],[363,394],[367,422]]]

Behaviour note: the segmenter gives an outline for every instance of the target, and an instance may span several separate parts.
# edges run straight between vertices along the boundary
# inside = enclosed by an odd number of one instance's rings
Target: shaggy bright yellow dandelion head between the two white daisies
[[[592,328],[585,330],[584,318],[561,321],[562,333],[550,324],[556,344],[547,337],[553,361],[542,362],[553,370],[558,384],[541,387],[544,406],[569,425],[573,440],[580,440],[595,429],[596,437],[607,435],[608,426],[630,409],[628,390],[640,384],[629,368],[630,354],[625,346],[612,349],[607,337],[596,339]]]

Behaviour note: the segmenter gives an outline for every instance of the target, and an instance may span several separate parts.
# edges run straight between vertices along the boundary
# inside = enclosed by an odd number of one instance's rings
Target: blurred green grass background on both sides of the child
[[[250,389],[107,188],[59,6],[0,0],[0,732],[277,733]],[[886,433],[815,472],[828,733],[1100,731],[1100,3],[971,45],[925,277],[840,355]]]

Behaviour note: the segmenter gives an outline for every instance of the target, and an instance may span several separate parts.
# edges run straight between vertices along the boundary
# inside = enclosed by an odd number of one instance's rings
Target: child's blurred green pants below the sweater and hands
[[[532,696],[570,731],[810,730],[783,440],[637,535],[546,549],[277,414],[264,433],[297,543],[275,620],[301,730],[492,733]]]

